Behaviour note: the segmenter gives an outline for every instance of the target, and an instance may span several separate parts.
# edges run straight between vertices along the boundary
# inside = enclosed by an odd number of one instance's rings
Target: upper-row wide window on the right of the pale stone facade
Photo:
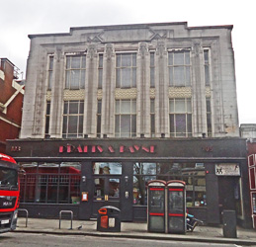
[[[168,69],[170,87],[191,86],[191,62],[189,50],[168,52]]]

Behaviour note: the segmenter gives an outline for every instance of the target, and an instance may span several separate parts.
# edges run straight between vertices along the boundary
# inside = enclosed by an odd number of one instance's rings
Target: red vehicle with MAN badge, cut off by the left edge
[[[20,196],[19,166],[16,161],[0,153],[0,233],[14,230]]]

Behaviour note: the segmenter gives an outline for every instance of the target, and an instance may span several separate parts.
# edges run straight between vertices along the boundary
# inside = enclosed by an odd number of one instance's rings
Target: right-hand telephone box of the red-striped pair
[[[169,233],[186,233],[186,183],[167,182],[167,229]]]

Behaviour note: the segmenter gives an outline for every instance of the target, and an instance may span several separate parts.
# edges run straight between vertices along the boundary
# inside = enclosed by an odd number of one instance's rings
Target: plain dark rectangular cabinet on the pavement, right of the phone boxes
[[[223,236],[236,238],[236,214],[234,210],[223,210]]]

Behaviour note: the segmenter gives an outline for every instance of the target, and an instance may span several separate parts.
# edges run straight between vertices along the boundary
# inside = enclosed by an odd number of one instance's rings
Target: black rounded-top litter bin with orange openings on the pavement
[[[102,206],[98,210],[97,230],[108,232],[121,231],[120,208],[116,206]]]

